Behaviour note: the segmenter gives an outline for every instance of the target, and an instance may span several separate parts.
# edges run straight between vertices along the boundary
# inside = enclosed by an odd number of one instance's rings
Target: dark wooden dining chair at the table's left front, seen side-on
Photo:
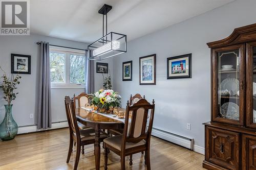
[[[69,96],[65,97],[65,108],[69,124],[70,132],[70,143],[69,143],[69,152],[67,157],[67,163],[69,163],[71,153],[73,151],[73,142],[76,142],[76,158],[73,169],[76,170],[79,162],[81,147],[87,144],[95,143],[95,130],[93,128],[79,129],[77,125],[74,102]],[[100,141],[103,141],[104,138],[108,137],[107,135],[100,133]],[[82,151],[84,153],[84,151]]]

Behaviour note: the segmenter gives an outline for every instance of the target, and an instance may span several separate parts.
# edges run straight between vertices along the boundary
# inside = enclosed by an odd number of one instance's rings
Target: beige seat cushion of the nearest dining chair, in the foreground
[[[105,142],[106,144],[109,144],[112,147],[114,147],[115,149],[121,151],[122,137],[123,137],[123,135],[108,137],[108,138],[104,139],[103,142]],[[144,145],[145,143],[146,143],[145,140],[141,140],[138,143],[126,142],[125,149],[130,149],[130,148],[138,147],[140,145]]]

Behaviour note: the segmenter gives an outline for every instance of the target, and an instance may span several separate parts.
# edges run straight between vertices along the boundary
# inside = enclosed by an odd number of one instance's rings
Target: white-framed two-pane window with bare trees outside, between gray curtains
[[[52,88],[83,88],[85,65],[84,51],[50,46]]]

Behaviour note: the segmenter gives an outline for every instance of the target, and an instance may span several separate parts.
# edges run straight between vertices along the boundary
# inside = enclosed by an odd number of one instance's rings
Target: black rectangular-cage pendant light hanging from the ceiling
[[[103,31],[102,38],[88,45],[89,60],[104,60],[113,56],[117,56],[122,53],[126,53],[126,35],[110,32],[108,33],[108,12],[112,9],[112,6],[104,4],[99,10],[99,14],[103,16]],[[105,29],[104,35],[104,17],[105,17]]]

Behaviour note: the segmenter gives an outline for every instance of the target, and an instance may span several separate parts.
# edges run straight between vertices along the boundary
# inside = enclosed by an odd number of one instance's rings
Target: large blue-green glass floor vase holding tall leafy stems
[[[18,133],[18,125],[12,117],[12,105],[5,105],[5,118],[0,125],[0,138],[12,140]]]

